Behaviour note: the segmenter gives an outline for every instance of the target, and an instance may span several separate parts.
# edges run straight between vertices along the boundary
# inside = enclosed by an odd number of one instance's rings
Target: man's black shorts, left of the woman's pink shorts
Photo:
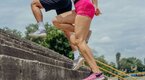
[[[45,11],[56,10],[59,15],[72,9],[71,0],[40,0]]]

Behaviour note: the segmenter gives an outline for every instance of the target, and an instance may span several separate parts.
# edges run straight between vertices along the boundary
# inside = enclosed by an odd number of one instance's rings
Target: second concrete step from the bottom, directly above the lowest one
[[[30,51],[26,51],[20,48],[16,48],[13,46],[7,46],[0,44],[0,55],[8,55],[13,57],[18,57],[22,59],[28,59],[28,60],[37,60],[39,62],[49,63],[56,66],[61,66],[65,68],[72,68],[72,63],[63,62],[60,60],[56,60],[50,57],[46,57],[40,54],[36,54]]]

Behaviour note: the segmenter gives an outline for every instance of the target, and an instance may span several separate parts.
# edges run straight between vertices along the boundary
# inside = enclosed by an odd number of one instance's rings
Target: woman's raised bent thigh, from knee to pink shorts
[[[61,24],[74,24],[76,12],[74,10],[65,12],[55,17],[55,20]]]

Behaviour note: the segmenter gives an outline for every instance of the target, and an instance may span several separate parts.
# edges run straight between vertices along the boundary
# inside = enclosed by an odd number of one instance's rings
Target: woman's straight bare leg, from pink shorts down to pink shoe
[[[100,73],[91,49],[85,41],[89,32],[90,23],[91,19],[89,17],[77,15],[75,19],[75,34],[71,35],[71,42],[78,47],[92,71],[94,73]]]

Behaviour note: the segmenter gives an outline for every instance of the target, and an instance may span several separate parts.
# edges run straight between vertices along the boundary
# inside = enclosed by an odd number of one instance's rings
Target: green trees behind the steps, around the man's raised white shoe
[[[36,31],[38,26],[36,24],[30,24],[26,27],[26,39],[36,42],[44,47],[52,49],[70,59],[73,59],[71,47],[64,33],[54,26],[45,24],[47,36],[46,38],[31,38],[28,36],[29,33]]]

